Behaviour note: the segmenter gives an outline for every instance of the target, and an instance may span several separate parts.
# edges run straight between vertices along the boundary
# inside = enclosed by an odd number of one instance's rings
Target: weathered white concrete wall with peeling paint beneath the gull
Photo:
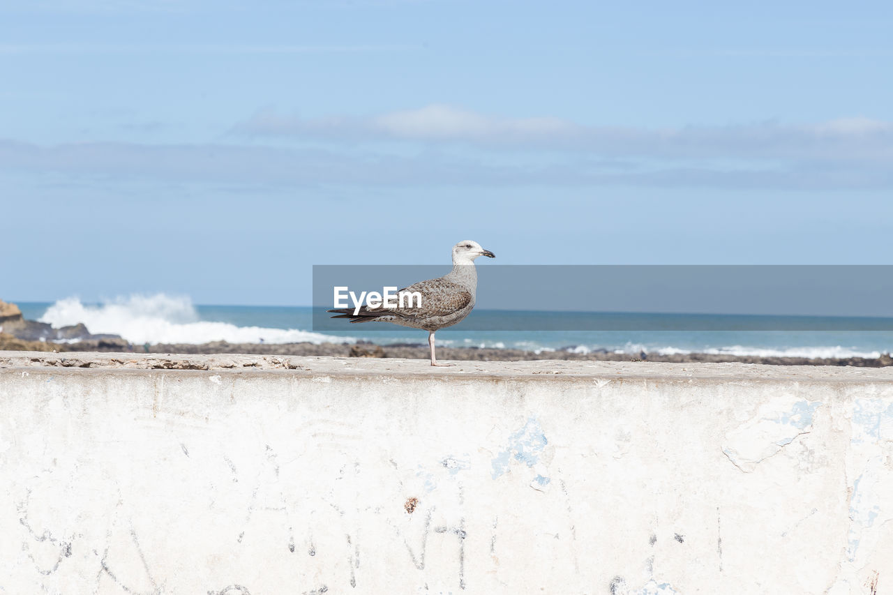
[[[0,481],[4,594],[882,593],[893,369],[3,353]]]

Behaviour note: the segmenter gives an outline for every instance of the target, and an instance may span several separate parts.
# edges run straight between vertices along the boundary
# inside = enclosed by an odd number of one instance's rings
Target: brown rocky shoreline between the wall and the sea
[[[71,342],[74,339],[75,342]],[[376,345],[368,342],[349,343],[228,343],[213,341],[195,345],[191,343],[133,345],[117,335],[92,334],[83,324],[53,329],[49,324],[25,320],[14,304],[0,301],[0,350],[11,351],[72,351],[115,353],[162,353],[162,354],[255,354],[266,356],[339,356],[339,357],[405,357],[428,359],[429,349],[423,344]],[[438,347],[438,359],[458,361],[508,361],[564,360],[608,362],[739,362],[768,365],[851,365],[855,367],[884,367],[893,365],[893,357],[781,357],[781,356],[731,356],[705,353],[660,355],[655,353],[613,353],[594,351],[524,351],[522,349],[449,348]]]

